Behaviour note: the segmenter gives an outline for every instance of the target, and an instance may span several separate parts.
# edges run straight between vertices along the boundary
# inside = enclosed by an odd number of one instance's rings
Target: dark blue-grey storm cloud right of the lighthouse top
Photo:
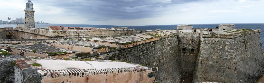
[[[46,6],[65,9],[65,13],[82,16],[92,21],[111,19],[140,19],[158,17],[170,5],[199,0],[45,0],[34,1]]]

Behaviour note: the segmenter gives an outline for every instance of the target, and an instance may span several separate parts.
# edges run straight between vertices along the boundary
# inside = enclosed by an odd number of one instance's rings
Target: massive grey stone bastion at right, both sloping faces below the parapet
[[[249,40],[250,39],[250,40]],[[263,75],[259,33],[235,38],[202,38],[193,82],[256,82]]]

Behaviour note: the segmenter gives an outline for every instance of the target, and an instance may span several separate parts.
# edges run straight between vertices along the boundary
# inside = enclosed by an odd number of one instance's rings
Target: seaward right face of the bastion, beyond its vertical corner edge
[[[264,56],[259,33],[234,38],[234,52],[237,82],[257,82],[264,73]]]

